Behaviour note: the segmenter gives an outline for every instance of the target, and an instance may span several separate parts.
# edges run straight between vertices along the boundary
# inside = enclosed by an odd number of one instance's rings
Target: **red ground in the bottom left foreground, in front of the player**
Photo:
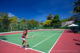
[[[0,40],[0,53],[41,53],[32,49],[25,50],[20,46]]]

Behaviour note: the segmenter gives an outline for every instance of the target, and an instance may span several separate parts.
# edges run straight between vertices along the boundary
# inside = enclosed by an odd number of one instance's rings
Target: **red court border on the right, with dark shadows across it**
[[[50,53],[80,53],[80,34],[65,30]]]

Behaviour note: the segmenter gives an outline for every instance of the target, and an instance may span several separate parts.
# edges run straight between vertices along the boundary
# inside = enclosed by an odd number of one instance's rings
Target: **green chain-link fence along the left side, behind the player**
[[[4,25],[3,23],[0,23],[0,32],[7,32],[7,31],[23,31],[25,28],[28,28],[29,30],[36,30],[39,27],[38,26],[31,26],[27,24],[18,24],[18,23],[11,23],[9,25]]]

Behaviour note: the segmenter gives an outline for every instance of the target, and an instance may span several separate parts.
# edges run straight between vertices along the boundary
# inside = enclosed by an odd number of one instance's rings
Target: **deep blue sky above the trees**
[[[60,19],[72,16],[73,1],[75,0],[0,0],[0,12],[9,16],[24,17],[45,21],[49,13],[59,14]]]

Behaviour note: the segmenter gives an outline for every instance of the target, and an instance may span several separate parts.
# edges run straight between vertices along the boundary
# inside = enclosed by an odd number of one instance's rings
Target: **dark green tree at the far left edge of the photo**
[[[6,12],[0,13],[0,28],[1,31],[9,31],[10,20]]]

